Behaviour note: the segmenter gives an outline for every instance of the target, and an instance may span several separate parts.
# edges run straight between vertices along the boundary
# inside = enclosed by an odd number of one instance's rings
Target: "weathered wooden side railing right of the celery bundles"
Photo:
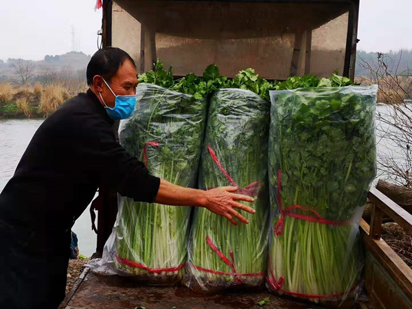
[[[389,277],[398,285],[404,296],[412,300],[412,269],[405,264],[398,254],[389,247],[389,245],[380,238],[382,233],[382,218],[385,215],[393,219],[405,232],[412,234],[412,215],[402,209],[398,204],[391,201],[390,198],[382,194],[376,188],[372,188],[369,192],[369,200],[374,203],[374,212],[371,216],[370,226],[361,220],[361,234],[365,247],[374,255],[376,260],[387,271]],[[412,244],[411,244],[412,245]],[[376,304],[377,308],[393,308],[395,305],[391,303],[393,299],[382,296],[378,290],[385,290],[385,283],[373,282],[374,279],[365,282],[365,286],[369,293],[369,299],[372,304]],[[378,285],[378,286],[377,286]],[[403,295],[403,294],[402,294]],[[404,297],[402,296],[402,297]],[[401,308],[406,308],[402,307]]]

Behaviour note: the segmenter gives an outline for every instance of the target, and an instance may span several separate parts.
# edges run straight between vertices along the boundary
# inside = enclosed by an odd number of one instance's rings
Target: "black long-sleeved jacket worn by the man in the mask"
[[[27,253],[53,254],[98,187],[153,202],[160,179],[117,144],[112,125],[90,90],[49,116],[0,194],[0,231]]]

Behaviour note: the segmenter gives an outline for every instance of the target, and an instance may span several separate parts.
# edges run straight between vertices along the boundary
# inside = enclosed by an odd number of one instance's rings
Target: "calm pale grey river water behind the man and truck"
[[[378,106],[377,111],[387,111],[387,106]],[[25,148],[42,122],[42,119],[0,120],[0,192],[13,176]],[[389,146],[392,146],[391,141],[385,141],[385,139],[378,139],[378,141],[378,152],[387,153]],[[385,176],[385,172],[381,170],[378,176]],[[97,237],[91,230],[89,208],[78,218],[73,231],[79,238],[80,253],[92,255],[95,251]]]

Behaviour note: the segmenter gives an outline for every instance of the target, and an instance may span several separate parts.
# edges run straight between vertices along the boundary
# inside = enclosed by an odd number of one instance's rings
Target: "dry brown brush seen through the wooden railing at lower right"
[[[382,239],[412,268],[412,237],[397,223],[382,225]]]

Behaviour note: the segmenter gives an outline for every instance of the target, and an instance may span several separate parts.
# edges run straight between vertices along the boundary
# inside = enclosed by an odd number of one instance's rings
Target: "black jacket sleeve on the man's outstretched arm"
[[[100,115],[84,115],[74,124],[77,141],[75,153],[99,187],[152,203],[159,190],[160,179],[149,174],[144,163],[132,157],[115,141],[111,126]]]

